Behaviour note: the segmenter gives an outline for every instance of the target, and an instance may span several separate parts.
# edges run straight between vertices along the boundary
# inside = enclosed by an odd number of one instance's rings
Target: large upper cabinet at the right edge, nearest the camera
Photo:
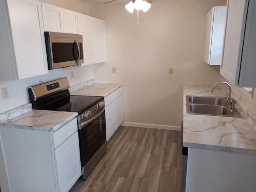
[[[220,74],[235,86],[256,87],[256,2],[229,0]]]

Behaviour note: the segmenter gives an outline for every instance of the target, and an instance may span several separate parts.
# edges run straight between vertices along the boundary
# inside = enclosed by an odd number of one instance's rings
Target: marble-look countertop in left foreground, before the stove
[[[26,108],[25,112],[22,110],[24,108]],[[17,111],[20,111],[20,114],[12,117],[11,114]],[[32,107],[28,110],[28,105],[24,105],[16,110],[0,114],[0,126],[52,132],[70,122],[77,115],[76,112],[32,110]]]

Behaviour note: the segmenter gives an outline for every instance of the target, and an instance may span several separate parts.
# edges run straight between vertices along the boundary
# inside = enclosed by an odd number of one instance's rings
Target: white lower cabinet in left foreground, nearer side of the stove
[[[56,132],[0,127],[4,192],[68,192],[81,176],[76,118]]]

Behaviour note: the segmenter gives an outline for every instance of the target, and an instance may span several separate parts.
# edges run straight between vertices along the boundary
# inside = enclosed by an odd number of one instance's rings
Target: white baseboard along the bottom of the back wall
[[[156,124],[133,123],[133,122],[122,122],[121,126],[166,129],[166,130],[175,130],[175,131],[181,130],[180,126],[156,125]]]

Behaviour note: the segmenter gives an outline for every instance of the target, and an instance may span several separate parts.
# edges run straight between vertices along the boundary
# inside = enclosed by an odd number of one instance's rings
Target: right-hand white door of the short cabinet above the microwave
[[[64,33],[78,34],[77,12],[62,9],[61,22],[63,23]]]

